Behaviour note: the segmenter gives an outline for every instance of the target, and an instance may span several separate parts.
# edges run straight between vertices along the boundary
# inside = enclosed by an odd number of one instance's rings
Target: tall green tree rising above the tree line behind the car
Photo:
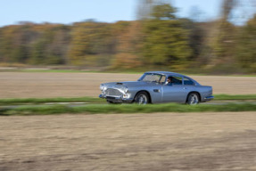
[[[152,19],[144,22],[143,55],[149,65],[181,66],[191,55],[188,30],[175,16],[176,8],[169,4],[153,7]]]

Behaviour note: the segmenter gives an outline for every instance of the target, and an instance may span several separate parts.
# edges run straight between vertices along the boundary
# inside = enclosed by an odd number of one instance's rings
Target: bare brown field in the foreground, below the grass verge
[[[1,117],[0,170],[256,170],[256,115]]]

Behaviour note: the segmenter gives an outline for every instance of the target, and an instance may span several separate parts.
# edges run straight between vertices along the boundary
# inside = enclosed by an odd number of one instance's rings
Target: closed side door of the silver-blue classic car
[[[183,77],[172,77],[172,83],[162,85],[162,102],[186,102],[187,89]]]

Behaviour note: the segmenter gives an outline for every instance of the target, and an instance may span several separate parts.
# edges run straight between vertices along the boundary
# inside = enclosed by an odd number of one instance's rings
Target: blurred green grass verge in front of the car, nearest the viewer
[[[176,103],[149,104],[149,105],[86,105],[69,107],[64,105],[19,107],[15,109],[2,109],[0,116],[12,115],[53,115],[62,113],[87,113],[87,114],[108,114],[108,113],[153,113],[153,112],[205,112],[205,111],[256,111],[253,103],[223,104],[223,105],[184,105]]]

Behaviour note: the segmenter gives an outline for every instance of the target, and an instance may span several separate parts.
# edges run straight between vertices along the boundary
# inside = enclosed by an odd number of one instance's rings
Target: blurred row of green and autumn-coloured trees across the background
[[[256,15],[244,26],[227,16],[199,22],[153,6],[144,20],[21,22],[0,28],[0,62],[110,69],[244,69],[256,72]],[[228,13],[228,12],[226,12]]]

